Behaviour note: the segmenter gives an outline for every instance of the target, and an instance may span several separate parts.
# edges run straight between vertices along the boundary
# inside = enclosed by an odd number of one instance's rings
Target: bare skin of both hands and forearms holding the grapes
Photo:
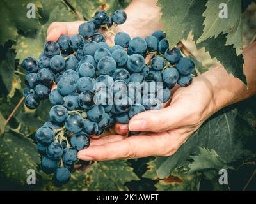
[[[124,31],[131,37],[145,37],[157,29],[160,9],[155,0],[134,0],[125,9],[127,21],[118,25],[115,32]],[[143,10],[143,12],[141,12]],[[58,40],[61,34],[77,34],[81,21],[54,22],[47,31],[47,40]],[[113,42],[113,36],[108,36]],[[112,160],[147,156],[170,156],[186,142],[202,123],[225,106],[243,101],[256,94],[256,42],[244,48],[244,74],[248,88],[222,66],[193,77],[188,87],[176,85],[172,100],[161,110],[150,110],[132,117],[129,124],[116,124],[119,135],[92,139],[88,149],[77,157],[82,160]],[[127,137],[128,131],[142,131],[142,135]]]

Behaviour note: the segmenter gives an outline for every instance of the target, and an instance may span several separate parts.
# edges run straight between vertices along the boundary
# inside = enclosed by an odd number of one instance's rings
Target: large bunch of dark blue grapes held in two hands
[[[51,120],[35,137],[42,171],[54,173],[56,186],[68,182],[77,151],[89,147],[90,137],[102,135],[115,122],[127,124],[145,110],[159,110],[176,83],[185,87],[192,82],[193,61],[182,57],[179,48],[169,50],[163,31],[145,39],[120,32],[109,47],[99,30],[113,33],[111,28],[125,20],[123,10],[112,17],[97,11],[92,21],[79,26],[79,34],[48,41],[39,61],[28,57],[22,62],[28,73],[26,106],[35,109],[47,98],[54,105]]]

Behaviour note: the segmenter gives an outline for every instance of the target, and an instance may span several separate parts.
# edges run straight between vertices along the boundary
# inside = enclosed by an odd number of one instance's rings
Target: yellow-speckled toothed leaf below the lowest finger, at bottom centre
[[[78,191],[128,191],[124,185],[131,180],[139,180],[127,160],[95,162],[84,173],[72,175],[70,184],[63,186],[61,191],[70,191],[76,184]],[[102,185],[104,184],[104,185]]]

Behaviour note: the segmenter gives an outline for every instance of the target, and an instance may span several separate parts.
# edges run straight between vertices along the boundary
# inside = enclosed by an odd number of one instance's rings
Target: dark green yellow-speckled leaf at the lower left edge
[[[36,171],[40,163],[36,145],[19,133],[5,133],[0,136],[1,176],[19,184],[26,184],[27,171]]]

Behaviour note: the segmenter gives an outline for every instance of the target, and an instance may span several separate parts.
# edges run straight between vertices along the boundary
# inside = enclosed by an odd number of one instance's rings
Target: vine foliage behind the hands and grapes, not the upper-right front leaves
[[[38,166],[40,157],[36,152],[34,136],[36,129],[49,120],[51,104],[44,101],[35,111],[31,111],[20,101],[25,87],[20,63],[25,57],[38,57],[42,52],[47,27],[51,22],[91,20],[99,9],[111,14],[125,8],[129,2],[130,0],[0,2],[0,190],[256,190],[256,98],[229,106],[213,115],[173,156],[104,162],[79,161],[72,179],[61,188],[52,186],[51,178],[42,173]],[[26,18],[28,3],[35,3],[36,19]],[[245,47],[255,38],[256,4],[251,4],[244,11],[242,21]],[[196,48],[191,33],[181,43],[181,48],[186,48],[194,56],[198,73],[220,63],[209,52],[205,52],[205,48]],[[19,102],[20,106],[6,124]],[[220,168],[228,169],[228,186],[217,183]],[[36,185],[26,184],[28,169],[36,170]]]

